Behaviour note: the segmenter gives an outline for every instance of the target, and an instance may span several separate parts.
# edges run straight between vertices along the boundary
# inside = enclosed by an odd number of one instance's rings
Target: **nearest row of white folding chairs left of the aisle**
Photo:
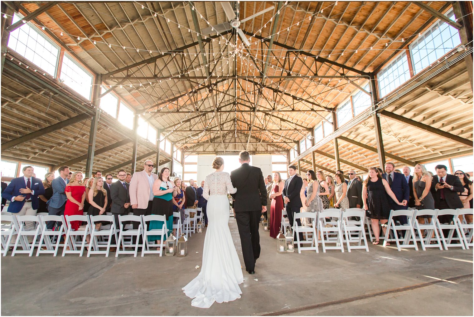
[[[177,217],[177,234],[181,228],[181,217],[179,213],[173,213]],[[162,221],[162,228],[149,229],[150,221]],[[55,222],[53,229],[47,228],[47,223]],[[85,223],[79,230],[73,230],[71,223],[79,221]],[[35,223],[34,230],[27,230],[25,222]],[[96,230],[95,223],[108,222],[109,224]],[[119,230],[116,229],[115,218],[111,214],[96,216],[83,215],[48,215],[46,213],[16,216],[15,214],[1,214],[1,252],[6,256],[9,247],[13,247],[11,255],[16,253],[27,253],[32,256],[36,248],[36,256],[41,253],[58,254],[59,248],[63,247],[62,256],[67,253],[76,253],[82,256],[88,246],[87,256],[91,254],[105,254],[109,256],[111,247],[116,247],[116,254],[134,254],[137,256],[138,247],[142,247],[142,256],[146,253],[159,253],[163,255],[164,239],[168,235],[166,219],[163,215],[118,215]],[[133,229],[130,223],[138,223],[138,228]],[[174,225],[173,225],[174,228]],[[90,242],[86,242],[86,236],[90,235]],[[164,239],[160,244],[149,242],[148,236],[161,235]],[[64,236],[64,242],[61,237]],[[28,239],[30,238],[30,239]],[[141,238],[141,239],[140,239]],[[30,242],[32,240],[32,242]],[[140,243],[140,240],[142,242]],[[43,250],[45,247],[46,250]],[[160,250],[152,250],[153,247],[160,247]],[[126,250],[132,248],[132,251]],[[105,250],[104,250],[105,249]]]

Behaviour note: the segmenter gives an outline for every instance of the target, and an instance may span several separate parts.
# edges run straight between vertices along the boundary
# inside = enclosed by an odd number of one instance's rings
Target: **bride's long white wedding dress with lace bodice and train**
[[[244,277],[228,225],[228,192],[237,192],[228,173],[214,172],[206,176],[202,196],[208,200],[209,224],[204,239],[201,272],[182,288],[186,296],[193,298],[191,305],[194,307],[209,308],[214,302],[228,302],[240,298],[242,294],[238,285]]]

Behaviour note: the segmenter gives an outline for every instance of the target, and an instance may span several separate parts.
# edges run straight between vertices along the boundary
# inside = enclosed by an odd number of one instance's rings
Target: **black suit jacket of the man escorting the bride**
[[[230,172],[232,186],[237,188],[234,211],[262,211],[266,207],[266,188],[262,170],[247,163]]]

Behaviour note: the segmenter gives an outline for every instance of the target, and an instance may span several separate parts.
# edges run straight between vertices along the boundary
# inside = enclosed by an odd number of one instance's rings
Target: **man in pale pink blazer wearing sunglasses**
[[[153,162],[149,159],[145,161],[144,170],[135,172],[130,181],[130,205],[132,205],[133,214],[148,215],[151,214],[151,205],[153,202],[153,183],[158,176],[151,171]],[[133,229],[138,229],[138,223],[133,222]]]

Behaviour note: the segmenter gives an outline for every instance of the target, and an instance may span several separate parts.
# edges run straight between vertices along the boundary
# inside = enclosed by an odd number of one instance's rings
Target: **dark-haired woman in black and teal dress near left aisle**
[[[174,186],[170,180],[169,168],[162,168],[158,179],[153,184],[153,204],[151,207],[151,214],[164,215],[166,218],[166,229],[168,233],[166,236],[161,235],[149,235],[148,241],[155,240],[157,244],[161,243],[161,240],[165,240],[169,233],[173,232],[173,197],[177,195],[178,187]],[[150,221],[148,229],[161,229],[163,228],[163,221]],[[160,247],[156,248],[160,250]]]

